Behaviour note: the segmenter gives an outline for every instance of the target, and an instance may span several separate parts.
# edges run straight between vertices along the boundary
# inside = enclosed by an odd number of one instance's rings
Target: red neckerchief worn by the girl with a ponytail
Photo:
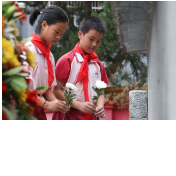
[[[49,90],[51,89],[51,85],[52,85],[53,80],[54,80],[53,67],[52,67],[52,63],[51,63],[50,58],[49,58],[49,53],[50,53],[51,46],[50,46],[50,44],[48,44],[48,46],[46,48],[46,45],[37,37],[36,34],[32,33],[31,37],[33,37],[33,39],[31,40],[31,42],[33,44],[35,44],[40,49],[40,51],[44,54],[44,56],[45,56],[45,58],[47,60],[49,89],[45,93],[48,93]]]

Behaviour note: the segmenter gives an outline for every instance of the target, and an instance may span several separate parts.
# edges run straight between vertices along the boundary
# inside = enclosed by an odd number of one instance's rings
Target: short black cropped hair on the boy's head
[[[88,16],[82,20],[80,30],[84,35],[89,32],[90,29],[95,29],[98,32],[102,32],[104,35],[106,31],[105,22],[99,17]]]

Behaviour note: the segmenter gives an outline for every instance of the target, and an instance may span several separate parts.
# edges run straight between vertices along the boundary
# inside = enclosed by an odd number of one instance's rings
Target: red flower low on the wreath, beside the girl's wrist
[[[37,98],[37,90],[34,90],[33,92],[28,92],[27,94],[27,99],[26,102],[31,106],[31,107],[35,107],[38,105],[40,99]]]

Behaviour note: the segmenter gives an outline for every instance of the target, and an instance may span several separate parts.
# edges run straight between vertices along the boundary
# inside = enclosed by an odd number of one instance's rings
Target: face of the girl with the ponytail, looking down
[[[67,22],[57,22],[56,24],[49,26],[46,21],[43,21],[41,37],[43,38],[44,43],[52,45],[61,39],[66,29]]]

